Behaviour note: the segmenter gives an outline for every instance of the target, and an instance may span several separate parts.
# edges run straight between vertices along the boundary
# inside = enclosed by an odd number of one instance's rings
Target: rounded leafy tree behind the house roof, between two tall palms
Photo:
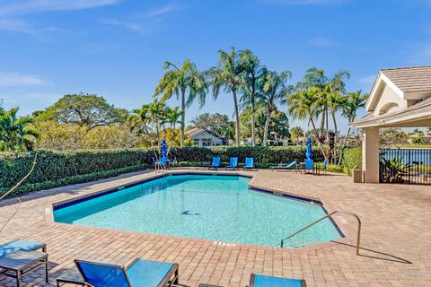
[[[235,127],[233,121],[226,115],[219,113],[210,114],[204,113],[190,120],[189,128],[198,127],[207,129],[216,135],[221,135],[225,139],[233,139],[235,135]]]

